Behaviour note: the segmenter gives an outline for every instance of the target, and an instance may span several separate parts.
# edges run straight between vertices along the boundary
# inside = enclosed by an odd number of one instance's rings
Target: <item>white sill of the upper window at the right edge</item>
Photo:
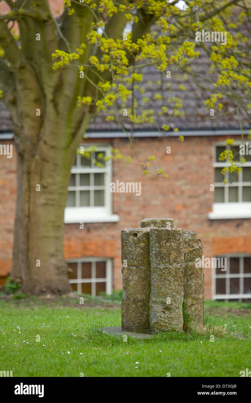
[[[251,203],[213,203],[212,212],[208,213],[208,218],[210,220],[251,218]]]

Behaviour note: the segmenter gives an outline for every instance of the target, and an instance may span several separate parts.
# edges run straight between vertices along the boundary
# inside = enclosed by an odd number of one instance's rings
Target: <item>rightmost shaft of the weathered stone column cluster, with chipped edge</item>
[[[184,233],[184,308],[188,318],[204,324],[204,270],[196,267],[196,258],[202,260],[201,240],[195,231]],[[197,264],[198,265],[198,264]]]

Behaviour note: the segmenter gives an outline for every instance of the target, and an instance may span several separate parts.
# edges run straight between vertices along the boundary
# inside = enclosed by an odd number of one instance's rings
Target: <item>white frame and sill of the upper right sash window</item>
[[[234,146],[245,144],[249,142],[248,140],[234,140]],[[250,143],[250,142],[249,142]],[[229,167],[231,164],[225,161],[217,161],[216,162],[216,147],[226,146],[224,141],[217,141],[213,145],[213,167],[214,168],[224,168]],[[243,156],[245,158],[245,155]],[[251,161],[246,161],[243,165],[243,168],[250,167]],[[234,219],[234,218],[251,218],[251,202],[228,202],[228,189],[229,187],[238,187],[238,198],[242,200],[242,189],[244,186],[251,186],[250,182],[242,181],[243,170],[239,174],[239,182],[227,183],[226,185],[222,185],[222,183],[214,183],[214,187],[224,187],[224,199],[225,202],[222,203],[213,203],[212,212],[208,213],[208,218],[210,220],[222,220],[222,219]],[[224,177],[222,175],[222,181]]]

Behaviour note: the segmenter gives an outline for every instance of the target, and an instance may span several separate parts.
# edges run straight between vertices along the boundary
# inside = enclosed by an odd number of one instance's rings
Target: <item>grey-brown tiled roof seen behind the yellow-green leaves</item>
[[[198,79],[198,82],[202,86],[208,86],[208,83],[204,79],[204,77],[210,77],[210,74],[208,73],[209,63],[207,56],[201,52],[201,55],[198,58],[195,58],[191,61],[191,67],[194,72],[201,75],[201,77]],[[154,116],[156,118],[158,127],[162,127],[163,124],[166,124],[170,127],[170,129],[178,127],[179,130],[239,128],[238,114],[236,112],[228,114],[228,112],[231,112],[235,109],[234,105],[231,104],[228,98],[224,98],[223,96],[220,100],[220,102],[223,104],[222,111],[218,112],[215,110],[215,116],[210,116],[210,111],[204,105],[204,100],[210,98],[210,91],[206,91],[205,89],[198,87],[190,76],[186,78],[182,72],[173,71],[171,68],[170,71],[171,77],[167,79],[165,73],[160,73],[153,66],[145,67],[143,69],[143,87],[145,88],[145,93],[142,94],[139,91],[135,91],[135,97],[137,98],[139,108],[142,108],[142,110],[152,109],[155,111]],[[212,79],[215,81],[215,77],[212,77]],[[162,84],[160,85],[157,83],[158,81],[162,81]],[[185,86],[186,89],[181,89],[181,85]],[[212,83],[210,84],[210,87],[214,88]],[[217,89],[215,92],[217,92]],[[163,99],[156,99],[156,93],[161,94]],[[144,104],[142,101],[145,97],[149,98],[149,102],[147,104]],[[183,100],[183,111],[185,112],[185,116],[173,116],[173,108],[170,100],[168,101],[169,98],[173,97],[181,98]],[[130,106],[129,101],[128,107],[130,108]],[[162,106],[168,107],[168,113],[166,116],[158,116],[158,112]],[[88,131],[120,130],[119,125],[115,121],[108,122],[105,120],[106,115],[107,113],[96,113],[91,120]],[[221,115],[224,116],[218,118]],[[121,121],[127,130],[131,129],[131,122],[129,121],[128,117],[121,116]],[[243,114],[243,116],[241,116],[241,123],[243,128],[248,128],[250,127],[251,122],[248,120],[247,116]],[[134,129],[156,130],[156,124],[135,124]],[[10,116],[5,106],[2,104],[2,102],[0,102],[0,132],[11,130],[12,125]]]

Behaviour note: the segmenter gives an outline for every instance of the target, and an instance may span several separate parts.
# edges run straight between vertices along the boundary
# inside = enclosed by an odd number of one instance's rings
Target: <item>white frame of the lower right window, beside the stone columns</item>
[[[218,256],[219,257],[219,256]],[[216,268],[213,269],[212,275],[212,290],[213,299],[245,299],[251,298],[251,293],[244,294],[244,278],[251,277],[251,273],[244,273],[244,258],[250,258],[250,253],[233,253],[221,255],[221,258],[227,258],[227,264],[229,265],[230,258],[239,258],[239,273],[230,273],[230,267],[227,266],[226,272],[224,274],[216,274]],[[226,294],[216,294],[216,279],[226,278]],[[230,278],[240,278],[240,293],[230,294]]]

